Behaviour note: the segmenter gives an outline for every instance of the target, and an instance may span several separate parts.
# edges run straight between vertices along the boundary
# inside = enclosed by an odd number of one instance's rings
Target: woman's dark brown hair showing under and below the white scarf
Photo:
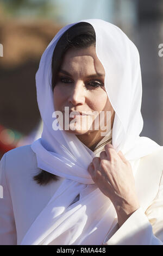
[[[58,40],[52,56],[52,89],[54,90],[57,82],[57,76],[64,58],[64,54],[70,48],[86,48],[96,45],[96,33],[90,23],[79,22],[67,29],[67,31]],[[46,172],[41,172],[33,177],[40,185],[46,185],[50,181],[59,180],[59,176]]]

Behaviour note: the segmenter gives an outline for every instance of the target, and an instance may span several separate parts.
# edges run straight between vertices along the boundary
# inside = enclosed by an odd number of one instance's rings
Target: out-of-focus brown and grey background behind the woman
[[[82,19],[120,27],[140,53],[140,136],[163,145],[163,1],[0,0],[0,158],[32,143],[42,131],[35,74],[41,55],[61,27]]]

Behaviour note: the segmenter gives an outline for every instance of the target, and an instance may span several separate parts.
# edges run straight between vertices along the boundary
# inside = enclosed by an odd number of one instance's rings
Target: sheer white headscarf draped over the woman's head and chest
[[[79,22],[88,22],[95,29],[96,53],[104,66],[105,89],[115,110],[112,145],[133,164],[160,147],[151,139],[139,136],[143,127],[139,52],[115,25],[99,19]],[[110,199],[87,172],[96,155],[76,135],[52,129],[52,54],[60,36],[76,23],[65,26],[55,35],[43,52],[36,73],[43,132],[31,147],[39,168],[65,180],[37,216],[21,245],[101,245],[116,216]],[[134,172],[134,164],[132,166]],[[78,194],[80,199],[70,205]]]

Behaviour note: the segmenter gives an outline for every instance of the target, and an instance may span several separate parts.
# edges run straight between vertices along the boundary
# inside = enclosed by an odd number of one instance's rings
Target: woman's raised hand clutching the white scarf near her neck
[[[127,218],[140,208],[135,191],[135,181],[130,162],[121,151],[116,153],[111,144],[94,157],[87,168],[92,180],[106,197],[109,197],[117,212],[121,226]]]

